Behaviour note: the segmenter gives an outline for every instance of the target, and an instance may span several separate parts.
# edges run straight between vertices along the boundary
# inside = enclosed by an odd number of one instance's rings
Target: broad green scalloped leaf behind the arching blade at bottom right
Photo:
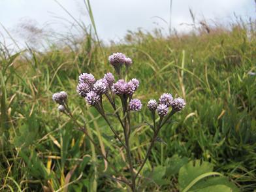
[[[199,177],[201,174],[212,172],[214,170],[214,166],[211,163],[203,161],[200,163],[199,160],[195,161],[195,165],[193,165],[193,161],[187,163],[179,171],[178,183],[180,185],[180,190],[184,190],[187,185],[189,185],[195,178]]]

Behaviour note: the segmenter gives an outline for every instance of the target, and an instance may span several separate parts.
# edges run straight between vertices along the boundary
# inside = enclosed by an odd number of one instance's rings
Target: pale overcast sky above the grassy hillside
[[[90,24],[84,0],[57,0],[72,16]],[[87,0],[86,0],[87,1]],[[119,41],[128,30],[152,31],[160,27],[168,32],[171,18],[172,29],[188,31],[192,23],[189,8],[197,20],[229,23],[234,12],[242,18],[255,20],[254,0],[91,0],[91,8],[99,38],[104,42]],[[19,45],[37,42],[37,35],[27,31],[55,33],[78,33],[71,27],[74,20],[61,8],[56,0],[0,0],[0,41],[11,43],[10,35]],[[7,31],[5,30],[7,29]]]

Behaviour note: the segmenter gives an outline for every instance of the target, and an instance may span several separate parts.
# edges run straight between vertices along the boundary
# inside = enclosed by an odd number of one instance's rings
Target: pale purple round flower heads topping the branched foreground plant
[[[99,80],[96,80],[93,74],[82,73],[78,77],[79,82],[76,87],[77,93],[81,97],[84,97],[87,103],[91,104],[92,106],[97,104],[101,104],[102,106],[102,103],[100,102],[102,101],[101,98],[103,94],[106,94],[110,103],[114,102],[114,100],[111,101],[111,99],[114,99],[114,93],[120,96],[124,106],[126,106],[126,104],[128,105],[128,110],[141,110],[141,101],[139,99],[132,99],[133,93],[135,93],[136,89],[138,89],[140,82],[136,78],[129,80],[129,82],[121,79],[121,66],[124,64],[126,67],[129,67],[133,63],[131,58],[126,57],[125,54],[122,53],[114,53],[108,57],[108,61],[114,66],[118,76],[120,76],[120,80],[115,83],[115,78],[111,72],[104,74],[104,77]],[[126,73],[127,69],[125,70],[125,74]],[[111,95],[108,95],[108,91],[111,91]],[[54,93],[52,99],[61,105],[59,106],[59,111],[65,112],[67,93],[64,91]],[[129,103],[127,103],[128,99]],[[148,109],[153,113],[157,111],[159,116],[164,117],[167,116],[170,107],[172,108],[172,111],[178,112],[185,107],[185,104],[184,99],[180,97],[174,99],[170,93],[163,93],[163,95],[159,97],[158,103],[155,99],[150,99],[147,106]],[[97,105],[97,107],[98,106],[100,105]]]

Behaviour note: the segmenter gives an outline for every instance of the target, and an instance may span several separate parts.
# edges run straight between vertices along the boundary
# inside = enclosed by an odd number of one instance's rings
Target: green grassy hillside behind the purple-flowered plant
[[[144,182],[146,190],[178,190],[178,172],[170,172],[170,157],[177,154],[209,161],[214,170],[228,176],[242,191],[253,191],[255,47],[253,23],[250,27],[236,24],[229,30],[199,29],[170,38],[159,31],[138,31],[129,33],[123,44],[101,48],[89,36],[72,46],[52,46],[48,52],[25,50],[10,55],[1,47],[1,191],[61,191],[66,184],[70,191],[124,189],[124,185],[105,176],[111,173],[108,165],[52,102],[52,93],[67,91],[74,117],[86,122],[110,162],[125,170],[124,152],[103,118],[76,93],[81,72],[91,72],[97,78],[114,72],[107,60],[112,52],[131,57],[129,78],[140,80],[136,97],[142,99],[144,107],[133,114],[136,128],[131,140],[136,162],[144,157],[152,135],[144,123],[150,121],[148,100],[170,92],[187,102],[185,109],[161,130],[164,142],[156,144],[144,168],[145,176],[147,171],[158,171],[153,172],[153,182]],[[165,182],[158,182],[157,177]]]

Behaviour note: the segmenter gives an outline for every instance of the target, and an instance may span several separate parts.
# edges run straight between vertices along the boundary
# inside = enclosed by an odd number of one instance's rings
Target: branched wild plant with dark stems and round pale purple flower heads
[[[143,161],[135,163],[130,146],[130,140],[132,139],[131,132],[133,131],[131,127],[133,116],[131,113],[139,112],[142,109],[140,99],[133,98],[135,91],[139,88],[139,81],[136,78],[132,78],[129,81],[127,80],[129,68],[133,63],[129,57],[121,53],[115,53],[108,57],[108,61],[114,67],[118,81],[115,82],[114,75],[111,72],[104,74],[104,77],[99,80],[96,80],[93,74],[82,73],[78,78],[76,91],[81,97],[84,97],[86,103],[99,112],[108,127],[110,127],[117,142],[119,142],[125,150],[127,163],[129,165],[129,177],[118,176],[118,170],[116,170],[114,165],[111,165],[109,157],[101,151],[98,144],[95,143],[95,140],[88,134],[88,128],[85,125],[80,125],[73,117],[67,102],[67,93],[65,91],[54,93],[52,99],[59,104],[58,110],[74,121],[75,125],[78,126],[77,129],[84,132],[103,159],[107,161],[110,167],[116,172],[117,176],[108,176],[108,178],[116,182],[123,182],[131,188],[131,191],[138,191],[138,187],[136,186],[137,178],[142,177],[140,172],[150,157],[155,142],[160,139],[158,136],[159,131],[164,125],[170,122],[174,114],[180,112],[185,107],[185,101],[180,97],[174,99],[170,93],[163,93],[163,95],[159,97],[158,102],[155,99],[148,101],[147,106],[148,110],[151,112],[152,118],[152,124],[149,123],[150,128],[153,130],[152,140]],[[103,97],[106,97],[106,100],[104,100]],[[104,108],[106,104],[104,101],[108,101],[110,106],[112,106],[114,116],[117,118],[117,121],[119,121],[123,133],[119,133],[117,127],[114,127],[108,119],[108,113]]]

